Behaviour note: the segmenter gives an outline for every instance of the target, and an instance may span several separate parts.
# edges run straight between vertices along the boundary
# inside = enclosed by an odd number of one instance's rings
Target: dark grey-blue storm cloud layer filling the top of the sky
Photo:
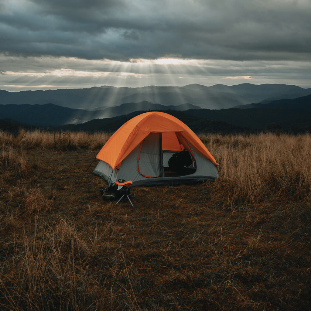
[[[0,51],[86,59],[309,60],[309,0],[2,0]]]

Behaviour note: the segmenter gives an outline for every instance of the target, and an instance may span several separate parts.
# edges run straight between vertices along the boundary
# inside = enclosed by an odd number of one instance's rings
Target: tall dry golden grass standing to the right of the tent
[[[282,200],[310,203],[311,135],[202,135],[220,164],[215,187],[230,204]]]

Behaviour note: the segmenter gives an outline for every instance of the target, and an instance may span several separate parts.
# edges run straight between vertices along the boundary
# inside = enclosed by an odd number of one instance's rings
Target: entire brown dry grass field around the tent
[[[311,135],[201,135],[214,183],[103,202],[109,134],[0,132],[1,310],[310,310]]]

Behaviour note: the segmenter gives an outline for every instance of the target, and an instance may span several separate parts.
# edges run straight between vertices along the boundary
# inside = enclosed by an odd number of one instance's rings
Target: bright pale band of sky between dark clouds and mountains
[[[311,63],[303,61],[240,62],[182,58],[112,61],[73,57],[28,57],[21,60],[0,54],[0,63],[0,88],[6,91],[93,86],[185,86],[195,83],[211,86],[246,81],[309,87],[311,78]]]

